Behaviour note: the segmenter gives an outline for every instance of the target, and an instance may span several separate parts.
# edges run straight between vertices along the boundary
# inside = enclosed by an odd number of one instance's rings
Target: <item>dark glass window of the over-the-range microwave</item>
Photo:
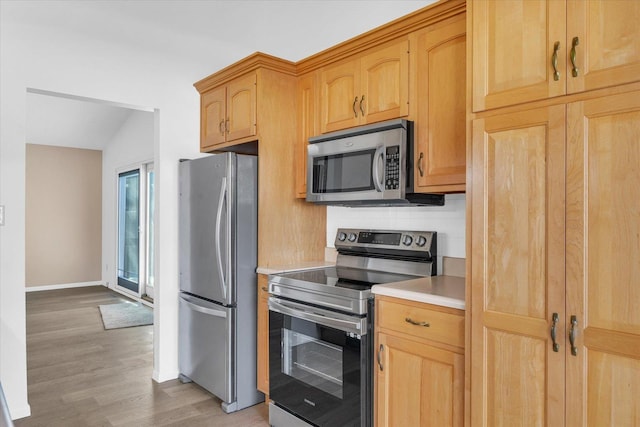
[[[314,157],[313,192],[344,193],[373,190],[373,156],[376,150]]]

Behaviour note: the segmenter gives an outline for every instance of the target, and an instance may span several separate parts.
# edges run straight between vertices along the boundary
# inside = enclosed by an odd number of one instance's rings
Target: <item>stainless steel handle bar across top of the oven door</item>
[[[274,297],[269,298],[269,310],[344,332],[353,332],[357,335],[365,335],[367,333],[367,320],[365,318],[341,315],[340,313]]]

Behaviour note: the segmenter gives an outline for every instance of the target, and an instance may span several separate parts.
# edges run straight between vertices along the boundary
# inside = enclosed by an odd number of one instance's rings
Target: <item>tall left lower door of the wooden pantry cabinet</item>
[[[472,425],[564,423],[564,123],[562,105],[473,122]]]

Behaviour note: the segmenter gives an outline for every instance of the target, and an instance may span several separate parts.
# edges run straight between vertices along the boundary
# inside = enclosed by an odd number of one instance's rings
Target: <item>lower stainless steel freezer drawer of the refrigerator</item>
[[[181,293],[178,315],[180,373],[223,402],[235,402],[236,308]]]

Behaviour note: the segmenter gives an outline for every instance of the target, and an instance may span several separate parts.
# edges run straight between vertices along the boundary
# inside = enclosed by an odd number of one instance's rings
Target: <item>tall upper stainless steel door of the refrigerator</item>
[[[235,305],[234,153],[180,163],[180,290]]]

